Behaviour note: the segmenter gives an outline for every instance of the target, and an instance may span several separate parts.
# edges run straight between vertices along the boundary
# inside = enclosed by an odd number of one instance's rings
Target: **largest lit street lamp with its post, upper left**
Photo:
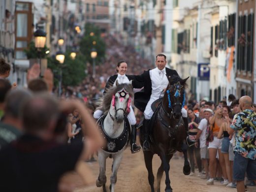
[[[41,67],[41,50],[44,48],[46,42],[46,32],[38,29],[34,32],[34,46],[37,48],[39,54],[40,77],[43,77],[45,67]],[[47,68],[47,65],[46,65]]]

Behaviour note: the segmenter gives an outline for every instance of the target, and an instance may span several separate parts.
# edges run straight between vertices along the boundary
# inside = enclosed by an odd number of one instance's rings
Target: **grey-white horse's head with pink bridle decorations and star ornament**
[[[130,84],[118,84],[116,81],[116,87],[110,88],[104,96],[104,100],[109,103],[111,96],[111,104],[109,110],[111,110],[112,119],[117,123],[124,121],[125,114],[130,110],[130,101],[132,95],[132,86]],[[108,100],[108,101],[107,101]]]

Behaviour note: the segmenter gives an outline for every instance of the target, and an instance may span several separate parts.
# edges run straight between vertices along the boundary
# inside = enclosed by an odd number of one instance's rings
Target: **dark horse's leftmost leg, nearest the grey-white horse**
[[[149,180],[149,185],[151,187],[151,192],[155,192],[154,190],[154,174],[152,170],[152,159],[154,154],[150,151],[143,151],[144,153],[144,160],[146,164],[146,168],[148,170],[148,180]]]

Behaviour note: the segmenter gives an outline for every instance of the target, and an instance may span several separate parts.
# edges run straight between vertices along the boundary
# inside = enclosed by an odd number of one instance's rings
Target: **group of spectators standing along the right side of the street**
[[[246,184],[255,186],[255,106],[249,96],[236,99],[229,95],[228,104],[225,100],[218,104],[188,101],[189,134],[197,141],[189,148],[191,176],[195,176],[196,160],[197,176],[207,179],[207,185],[220,181],[239,192],[243,192]],[[249,181],[244,184],[245,173]]]

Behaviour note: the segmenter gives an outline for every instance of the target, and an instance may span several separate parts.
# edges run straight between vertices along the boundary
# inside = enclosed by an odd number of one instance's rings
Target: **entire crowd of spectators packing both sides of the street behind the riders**
[[[105,37],[105,42],[106,58],[104,64],[96,66],[96,77],[90,75],[92,66],[88,64],[89,75],[79,86],[63,89],[59,99],[52,94],[53,76],[49,70],[39,79],[39,65],[33,65],[28,72],[28,88],[21,89],[5,79],[10,68],[0,60],[1,191],[32,191],[37,186],[42,186],[38,191],[57,191],[65,172],[75,170],[80,160],[94,160],[93,154],[104,145],[93,119],[94,101],[103,96],[116,64],[125,60],[129,66],[126,72],[132,75],[154,67],[113,36]],[[207,185],[220,181],[243,192],[247,173],[249,185],[255,185],[256,106],[252,99],[230,95],[228,103],[222,100],[216,104],[196,102],[191,96],[185,108],[187,132],[196,141],[188,150],[190,175],[195,176],[197,167],[198,176],[206,179]],[[134,108],[134,115],[138,123],[142,113]]]

